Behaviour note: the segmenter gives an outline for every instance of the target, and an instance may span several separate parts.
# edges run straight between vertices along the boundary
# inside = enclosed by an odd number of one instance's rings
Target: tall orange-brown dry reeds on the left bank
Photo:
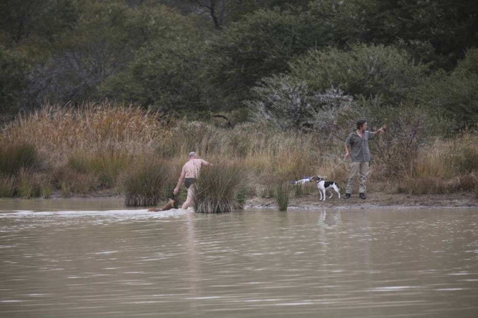
[[[78,108],[46,105],[20,114],[2,129],[1,139],[62,154],[105,147],[137,151],[151,147],[165,131],[159,112],[103,102]]]

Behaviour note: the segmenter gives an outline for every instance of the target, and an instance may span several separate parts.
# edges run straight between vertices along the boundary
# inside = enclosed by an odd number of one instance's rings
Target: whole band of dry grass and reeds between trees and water
[[[216,164],[252,171],[253,189],[247,190],[251,196],[273,195],[278,180],[313,174],[344,184],[348,164],[333,169],[342,158],[343,143],[323,139],[315,133],[266,131],[253,124],[225,129],[202,122],[168,122],[158,112],[107,102],[78,109],[48,105],[3,127],[0,196],[50,197],[59,192],[66,197],[109,188],[131,194],[131,205],[154,205],[174,187],[189,151]],[[370,178],[381,182],[380,187],[398,185],[390,191],[413,194],[478,192],[477,153],[476,133],[437,139],[423,145],[409,168],[394,175],[387,175],[385,161],[377,154]],[[394,155],[400,160],[399,153]],[[143,193],[147,189],[150,193]],[[307,191],[296,188],[291,193],[300,196]],[[151,196],[154,199],[148,201]]]

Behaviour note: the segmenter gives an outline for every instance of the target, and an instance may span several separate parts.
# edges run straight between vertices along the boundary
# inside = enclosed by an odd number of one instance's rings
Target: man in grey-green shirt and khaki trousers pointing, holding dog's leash
[[[359,180],[359,196],[360,199],[366,199],[365,189],[367,187],[368,163],[370,161],[370,150],[368,141],[375,139],[375,136],[385,132],[387,125],[383,125],[378,131],[367,131],[367,121],[359,119],[357,121],[357,130],[351,132],[345,140],[345,158],[352,157],[350,164],[349,181],[345,188],[344,199],[350,198],[357,174],[360,174]],[[350,152],[349,148],[350,146]]]

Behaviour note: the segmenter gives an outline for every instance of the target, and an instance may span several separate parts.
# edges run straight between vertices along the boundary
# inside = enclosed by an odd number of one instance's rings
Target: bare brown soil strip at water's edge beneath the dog
[[[380,192],[368,193],[367,199],[362,200],[358,194],[353,194],[350,199],[344,200],[343,195],[339,199],[334,195],[332,199],[326,198],[319,201],[319,195],[305,195],[289,200],[289,208],[317,209],[369,209],[369,208],[478,208],[478,198],[474,193],[453,193],[453,194],[385,194]],[[255,197],[246,201],[246,207],[270,207],[277,208],[274,198]]]

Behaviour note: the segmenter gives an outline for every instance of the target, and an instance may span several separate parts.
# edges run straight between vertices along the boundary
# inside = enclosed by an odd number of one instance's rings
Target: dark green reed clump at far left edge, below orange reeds
[[[34,168],[40,163],[37,150],[24,142],[0,143],[0,173],[5,175],[17,174],[21,168]]]

